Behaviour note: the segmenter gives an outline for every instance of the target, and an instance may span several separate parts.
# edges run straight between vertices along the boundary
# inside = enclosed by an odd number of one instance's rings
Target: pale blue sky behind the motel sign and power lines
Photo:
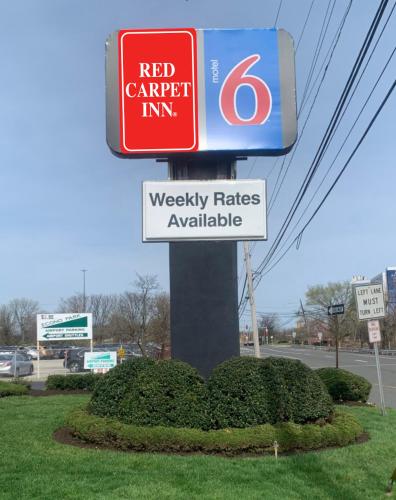
[[[318,67],[347,3],[336,2]],[[253,267],[264,258],[290,208],[378,4],[371,0],[352,4],[317,104],[271,210],[270,239],[255,246]],[[310,5],[311,0],[283,0],[277,26],[297,41]],[[296,55],[299,101],[327,6],[327,0],[314,2]],[[278,7],[279,0],[2,2],[0,304],[27,297],[39,301],[43,310],[53,311],[60,297],[82,290],[83,268],[88,270],[87,293],[132,289],[136,272],[158,275],[162,288],[168,289],[168,245],[141,242],[140,193],[143,180],[166,178],[166,165],[154,160],[120,160],[106,145],[105,40],[122,28],[271,27]],[[395,17],[379,42],[313,190],[395,46]],[[393,82],[395,68],[392,60],[312,208]],[[291,249],[262,280],[256,297],[259,311],[291,313],[309,285],[350,279],[355,274],[371,277],[396,264],[395,111],[392,96],[299,249]],[[268,176],[274,159],[249,159],[238,164],[238,177],[268,178],[271,195],[280,164]],[[241,249],[239,254],[242,270]]]

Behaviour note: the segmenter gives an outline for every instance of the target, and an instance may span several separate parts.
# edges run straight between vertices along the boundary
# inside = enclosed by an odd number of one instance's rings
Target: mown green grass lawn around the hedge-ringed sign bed
[[[166,456],[55,442],[89,396],[0,399],[0,499],[329,499],[385,497],[396,468],[396,411],[351,407],[370,433],[362,445],[263,458]],[[395,486],[396,489],[396,486]],[[396,498],[396,494],[394,494]]]

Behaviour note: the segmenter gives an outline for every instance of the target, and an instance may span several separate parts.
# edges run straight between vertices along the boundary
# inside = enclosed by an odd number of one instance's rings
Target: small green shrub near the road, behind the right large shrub
[[[323,380],[333,401],[366,402],[371,384],[364,377],[341,368],[319,368],[316,373]]]

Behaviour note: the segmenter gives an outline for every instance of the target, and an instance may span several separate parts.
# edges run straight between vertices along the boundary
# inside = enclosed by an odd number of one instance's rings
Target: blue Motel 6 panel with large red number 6
[[[282,150],[278,30],[204,30],[208,150]]]

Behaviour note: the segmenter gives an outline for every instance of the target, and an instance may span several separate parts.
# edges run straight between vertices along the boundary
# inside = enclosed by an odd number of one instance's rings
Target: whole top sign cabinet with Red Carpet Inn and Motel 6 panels
[[[280,155],[297,135],[278,29],[121,30],[106,43],[107,142],[124,157]]]

